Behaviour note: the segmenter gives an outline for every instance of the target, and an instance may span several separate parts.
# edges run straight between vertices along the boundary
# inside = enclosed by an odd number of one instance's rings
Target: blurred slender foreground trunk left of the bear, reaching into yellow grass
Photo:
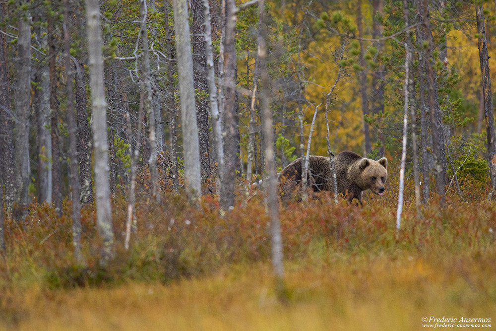
[[[281,225],[279,221],[279,201],[277,193],[276,160],[274,151],[274,131],[272,127],[272,112],[270,110],[270,78],[267,72],[267,44],[265,36],[264,1],[258,4],[258,14],[262,17],[258,27],[258,57],[260,59],[261,109],[263,116],[263,134],[265,137],[265,169],[267,170],[266,201],[270,216],[272,235],[272,266],[276,280],[276,293],[280,299],[285,296],[283,245]],[[229,17],[229,16],[228,16]]]

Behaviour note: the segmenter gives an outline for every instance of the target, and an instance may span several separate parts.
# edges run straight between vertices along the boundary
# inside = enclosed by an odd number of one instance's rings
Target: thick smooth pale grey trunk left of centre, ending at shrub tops
[[[191,121],[191,119],[196,118],[196,103],[194,100],[193,60],[189,41],[187,3],[182,0],[173,0],[172,5],[174,7],[179,92],[183,122],[186,192],[190,200],[197,201],[201,194],[201,175],[198,127],[196,121]]]

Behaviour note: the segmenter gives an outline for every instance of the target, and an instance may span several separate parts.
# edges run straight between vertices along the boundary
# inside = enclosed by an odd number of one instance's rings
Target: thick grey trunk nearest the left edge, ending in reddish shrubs
[[[25,1],[19,1],[23,6]],[[29,115],[31,97],[31,14],[19,10],[17,21],[19,38],[17,41],[17,82],[15,93],[14,162],[15,162],[15,202],[17,212],[14,217],[24,220],[27,216],[29,167]]]

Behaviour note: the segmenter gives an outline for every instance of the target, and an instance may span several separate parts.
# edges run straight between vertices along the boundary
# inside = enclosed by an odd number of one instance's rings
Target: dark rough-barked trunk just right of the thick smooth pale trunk
[[[210,173],[210,158],[208,144],[208,99],[203,95],[208,93],[207,89],[207,60],[205,53],[205,18],[202,0],[191,1],[193,34],[193,77],[195,89],[201,92],[196,99],[197,113],[196,122],[198,125],[198,139],[200,147],[200,171],[201,179],[204,182]]]

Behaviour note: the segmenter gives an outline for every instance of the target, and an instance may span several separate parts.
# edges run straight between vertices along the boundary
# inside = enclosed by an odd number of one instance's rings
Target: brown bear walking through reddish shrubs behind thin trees
[[[279,174],[278,180],[283,198],[291,197],[301,186],[301,162],[302,158],[296,159]],[[356,198],[362,204],[362,193],[365,190],[371,190],[379,196],[384,194],[384,183],[387,180],[385,157],[374,161],[357,153],[344,151],[336,155],[334,162],[338,193],[343,194],[348,201],[351,202]],[[314,192],[334,192],[331,163],[328,157],[314,155],[309,157],[307,183]]]

